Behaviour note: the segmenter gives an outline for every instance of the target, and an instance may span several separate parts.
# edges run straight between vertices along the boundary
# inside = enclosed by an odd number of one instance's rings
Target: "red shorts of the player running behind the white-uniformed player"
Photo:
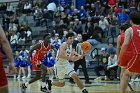
[[[38,60],[37,56],[33,56],[32,58],[32,70],[33,71],[40,71],[41,69],[37,67],[38,64],[41,64],[41,61]]]

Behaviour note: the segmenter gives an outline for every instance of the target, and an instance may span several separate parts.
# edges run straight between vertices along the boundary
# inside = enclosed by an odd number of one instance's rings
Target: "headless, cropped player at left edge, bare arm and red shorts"
[[[10,61],[9,72],[14,74],[16,72],[16,68],[14,67],[14,58],[12,54],[12,49],[10,48],[9,42],[4,34],[2,27],[0,26],[0,44],[6,53],[7,58]],[[2,53],[0,52],[0,93],[9,93],[8,92],[8,81],[5,74]]]

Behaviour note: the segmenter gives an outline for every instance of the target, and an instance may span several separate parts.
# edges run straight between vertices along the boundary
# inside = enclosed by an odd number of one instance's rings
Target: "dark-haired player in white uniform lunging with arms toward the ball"
[[[67,33],[66,35],[66,42],[63,43],[59,50],[57,51],[56,55],[56,76],[58,77],[59,81],[52,82],[52,85],[63,87],[65,85],[65,75],[69,75],[78,87],[82,90],[83,93],[88,93],[88,91],[84,88],[84,85],[76,75],[76,72],[73,69],[73,66],[69,63],[69,61],[77,61],[82,59],[83,56],[73,52],[72,50],[72,43],[73,43],[73,33]]]

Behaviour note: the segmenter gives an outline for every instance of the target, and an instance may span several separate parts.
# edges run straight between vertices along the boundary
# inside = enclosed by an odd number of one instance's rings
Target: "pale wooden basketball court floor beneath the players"
[[[20,84],[22,80],[13,80],[8,79],[9,81],[9,93],[21,93],[20,91]],[[119,81],[100,81],[100,82],[94,82],[93,80],[92,84],[85,84],[87,90],[89,93],[119,93]],[[83,81],[84,82],[84,81]],[[31,85],[28,86],[26,93],[43,93],[40,91],[40,81],[37,81]],[[130,92],[129,88],[127,89],[127,93],[140,93],[140,82],[135,83],[136,92]],[[51,93],[82,93],[80,89],[77,87],[76,84],[71,84],[66,80],[66,86],[65,87],[52,87]]]

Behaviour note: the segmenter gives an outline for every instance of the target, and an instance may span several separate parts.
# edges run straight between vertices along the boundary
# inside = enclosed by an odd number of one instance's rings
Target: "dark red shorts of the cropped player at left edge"
[[[0,87],[4,87],[6,85],[8,85],[8,81],[3,67],[3,62],[0,61]]]

